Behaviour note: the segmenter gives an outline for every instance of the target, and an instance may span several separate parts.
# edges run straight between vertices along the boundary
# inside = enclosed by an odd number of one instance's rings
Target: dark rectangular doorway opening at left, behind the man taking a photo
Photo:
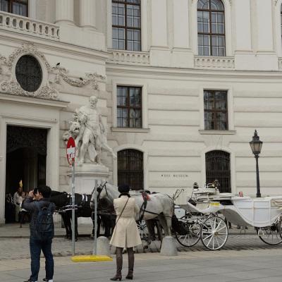
[[[28,191],[46,184],[47,130],[7,126],[6,194],[13,195],[23,180]]]

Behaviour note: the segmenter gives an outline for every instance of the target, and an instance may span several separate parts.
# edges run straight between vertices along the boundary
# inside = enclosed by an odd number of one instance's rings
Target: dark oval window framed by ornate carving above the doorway
[[[35,92],[42,82],[42,71],[37,59],[29,55],[20,57],[16,64],[16,78],[23,90]]]

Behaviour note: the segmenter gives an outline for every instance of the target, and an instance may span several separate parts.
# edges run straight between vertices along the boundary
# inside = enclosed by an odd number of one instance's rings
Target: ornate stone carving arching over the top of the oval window
[[[21,48],[16,49],[10,56],[8,56],[7,66],[8,68],[10,68],[10,70],[12,69],[13,64],[15,63],[18,56],[20,56],[21,54],[31,54],[37,56],[40,60],[42,60],[42,62],[46,66],[48,73],[51,71],[51,66],[47,62],[47,59],[45,58],[44,54],[38,51],[35,44],[32,42],[27,42],[26,44],[23,44]]]

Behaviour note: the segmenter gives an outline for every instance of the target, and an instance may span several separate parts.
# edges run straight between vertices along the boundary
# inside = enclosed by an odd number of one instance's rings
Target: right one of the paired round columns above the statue
[[[80,0],[80,27],[96,30],[96,0]]]

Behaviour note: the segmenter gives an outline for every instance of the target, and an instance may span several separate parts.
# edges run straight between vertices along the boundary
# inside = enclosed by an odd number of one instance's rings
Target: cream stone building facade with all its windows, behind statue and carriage
[[[281,0],[0,0],[0,222],[6,192],[69,191],[62,140],[92,95],[111,183],[172,194],[282,182]],[[39,130],[40,129],[40,130]],[[7,141],[9,140],[9,141]],[[11,141],[12,140],[12,141]]]

